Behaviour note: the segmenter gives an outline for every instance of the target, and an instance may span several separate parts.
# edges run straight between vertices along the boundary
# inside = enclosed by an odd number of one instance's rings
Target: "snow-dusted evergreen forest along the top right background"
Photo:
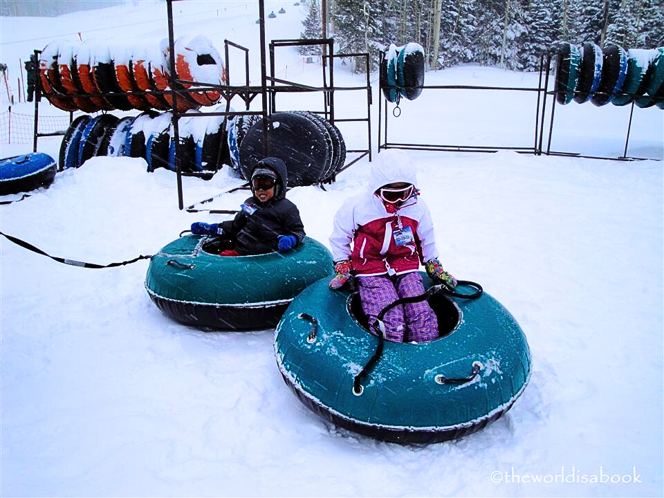
[[[438,49],[437,67],[474,62],[526,70],[539,68],[540,55],[559,39],[600,44],[606,37],[624,48],[664,45],[664,0],[439,1],[441,15],[434,19],[436,0],[334,0],[333,37],[341,53],[369,52],[372,66],[390,43],[417,42],[427,60]],[[312,36],[310,22],[307,17],[303,36]]]

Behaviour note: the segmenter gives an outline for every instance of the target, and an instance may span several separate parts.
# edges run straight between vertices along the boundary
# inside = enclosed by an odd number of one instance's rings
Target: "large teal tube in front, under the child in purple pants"
[[[293,299],[277,326],[279,371],[304,405],[359,434],[435,443],[477,431],[510,409],[526,387],[526,337],[486,293],[477,299],[434,293],[429,302],[441,337],[419,344],[385,341],[357,389],[355,376],[373,358],[378,338],[365,328],[357,293],[330,291],[327,279],[315,282]]]

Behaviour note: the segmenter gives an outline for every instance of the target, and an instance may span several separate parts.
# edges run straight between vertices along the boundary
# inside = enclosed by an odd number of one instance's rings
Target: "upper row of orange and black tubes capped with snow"
[[[145,42],[95,44],[50,42],[39,59],[39,80],[48,101],[64,111],[198,109],[216,104],[225,84],[225,67],[212,42],[201,35],[183,35],[174,42],[176,74],[170,74],[165,39]],[[203,86],[186,82],[201,82]]]

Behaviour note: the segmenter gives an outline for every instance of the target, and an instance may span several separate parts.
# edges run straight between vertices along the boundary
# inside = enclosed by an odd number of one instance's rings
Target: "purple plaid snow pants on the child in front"
[[[358,275],[358,290],[362,309],[373,324],[378,313],[400,297],[413,297],[424,293],[419,273],[403,275]],[[427,342],[438,338],[436,313],[426,301],[400,304],[391,308],[383,319],[385,338],[396,342]],[[370,327],[371,332],[373,329]]]

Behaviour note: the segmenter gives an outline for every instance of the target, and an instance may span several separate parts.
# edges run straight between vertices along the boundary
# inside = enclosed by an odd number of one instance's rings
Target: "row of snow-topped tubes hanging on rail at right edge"
[[[664,108],[664,48],[603,50],[593,43],[574,46],[558,42],[555,51],[555,96],[560,104],[572,100],[596,106],[609,103]]]

